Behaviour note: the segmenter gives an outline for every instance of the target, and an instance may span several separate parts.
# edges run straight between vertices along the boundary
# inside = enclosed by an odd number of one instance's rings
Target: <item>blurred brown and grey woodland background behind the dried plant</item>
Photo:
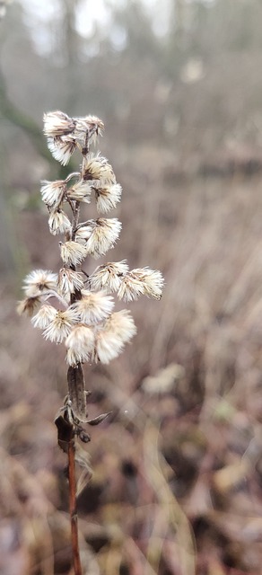
[[[83,574],[261,573],[261,22],[258,0],[6,6],[1,575],[73,575],[53,423],[65,349],[15,311],[26,273],[60,267],[39,198],[39,181],[61,175],[42,134],[54,110],[105,123],[100,151],[123,186],[112,213],[123,230],[105,260],[166,282],[160,302],[130,305],[138,333],[122,356],[85,366],[90,415],[111,415],[85,447]]]

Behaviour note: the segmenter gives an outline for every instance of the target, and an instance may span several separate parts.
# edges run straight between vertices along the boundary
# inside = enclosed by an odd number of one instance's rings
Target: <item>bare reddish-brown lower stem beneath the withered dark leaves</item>
[[[76,509],[76,480],[74,464],[74,437],[68,443],[68,479],[69,479],[69,511],[71,517],[71,540],[74,561],[74,575],[83,575],[79,544],[78,544],[78,526],[77,526],[77,509]]]

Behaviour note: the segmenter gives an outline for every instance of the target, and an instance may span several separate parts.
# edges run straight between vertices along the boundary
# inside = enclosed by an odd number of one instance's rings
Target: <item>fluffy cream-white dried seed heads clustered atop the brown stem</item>
[[[125,260],[102,264],[90,277],[80,268],[87,256],[97,259],[105,255],[121,230],[116,217],[79,221],[82,202],[89,204],[93,199],[100,216],[116,208],[121,199],[122,189],[108,160],[90,153],[90,145],[102,129],[102,121],[94,116],[69,118],[61,111],[44,115],[51,154],[65,165],[79,149],[83,163],[80,172],[70,173],[65,180],[41,183],[50,233],[64,235],[59,242],[63,264],[57,274],[31,271],[24,279],[25,298],[18,305],[19,313],[30,315],[31,323],[46,339],[65,342],[66,361],[72,367],[86,361],[109,363],[135,335],[129,311],[114,311],[113,295],[126,302],[142,295],[162,296],[160,271],[147,267],[129,270]],[[56,305],[51,305],[51,298]]]

